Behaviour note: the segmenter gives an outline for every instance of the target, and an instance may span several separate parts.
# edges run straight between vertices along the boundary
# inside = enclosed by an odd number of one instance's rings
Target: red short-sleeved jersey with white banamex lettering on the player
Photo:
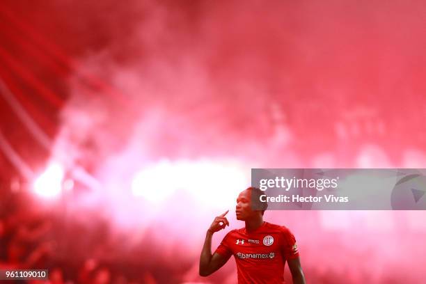
[[[253,232],[231,230],[216,253],[234,255],[239,284],[283,284],[285,261],[299,257],[292,232],[268,222]]]

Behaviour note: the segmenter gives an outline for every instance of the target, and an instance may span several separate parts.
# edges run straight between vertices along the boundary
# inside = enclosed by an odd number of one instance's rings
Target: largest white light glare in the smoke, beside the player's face
[[[240,191],[250,185],[242,167],[227,161],[159,161],[136,174],[132,182],[134,196],[153,203],[187,191],[209,207],[234,206]]]

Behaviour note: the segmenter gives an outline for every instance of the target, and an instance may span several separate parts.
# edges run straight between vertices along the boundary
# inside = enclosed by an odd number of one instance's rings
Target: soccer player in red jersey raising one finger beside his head
[[[255,204],[256,200],[260,202],[262,194],[255,187],[249,187],[239,194],[235,212],[237,220],[244,221],[246,226],[228,232],[212,255],[213,234],[229,226],[225,217],[229,210],[214,218],[201,251],[200,276],[209,276],[234,255],[239,284],[283,284],[286,261],[293,283],[305,283],[296,239],[284,226],[263,221],[267,203]]]

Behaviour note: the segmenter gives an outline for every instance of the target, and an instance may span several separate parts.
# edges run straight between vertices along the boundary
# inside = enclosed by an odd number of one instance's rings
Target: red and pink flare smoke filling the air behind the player
[[[3,2],[0,77],[52,149],[33,150],[26,130],[16,134],[24,127],[2,98],[1,130],[36,172],[59,160],[101,184],[68,200],[67,220],[82,232],[72,236],[107,239],[109,250],[82,251],[54,235],[76,262],[97,255],[143,271],[145,282],[200,281],[205,229],[227,208],[182,188],[157,206],[132,196],[134,175],[160,161],[243,175],[425,165],[423,1]],[[16,175],[1,161],[2,177]],[[105,227],[93,221],[102,218]],[[294,230],[308,283],[423,279],[424,212],[266,219]],[[234,267],[209,279],[234,283]]]

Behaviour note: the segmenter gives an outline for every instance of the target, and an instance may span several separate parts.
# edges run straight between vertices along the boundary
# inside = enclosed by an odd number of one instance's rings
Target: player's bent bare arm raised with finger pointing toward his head
[[[203,250],[200,255],[200,276],[209,276],[217,269],[223,267],[230,258],[230,255],[223,256],[219,253],[214,253],[214,255],[212,255],[213,234],[229,226],[228,219],[225,218],[228,211],[214,218],[212,225],[210,225],[209,230],[207,230]]]

